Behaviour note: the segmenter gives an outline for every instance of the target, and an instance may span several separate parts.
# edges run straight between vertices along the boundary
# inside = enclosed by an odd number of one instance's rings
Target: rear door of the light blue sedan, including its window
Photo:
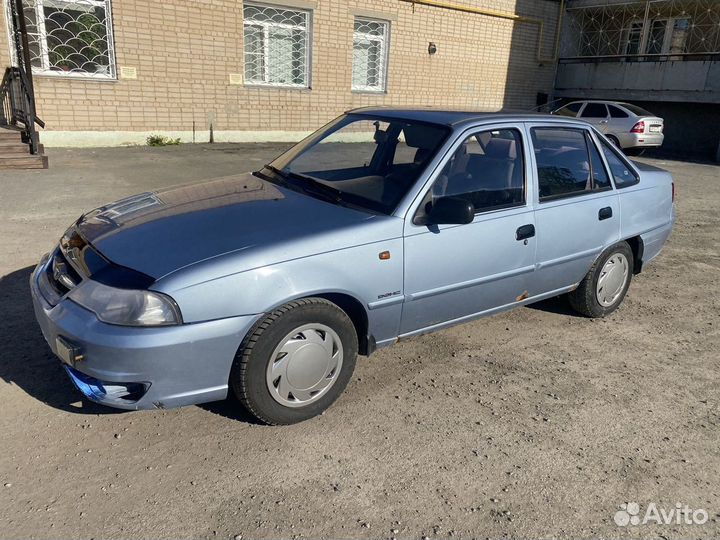
[[[604,248],[620,238],[617,192],[589,128],[528,125],[537,176],[536,271],[530,294],[579,283]]]

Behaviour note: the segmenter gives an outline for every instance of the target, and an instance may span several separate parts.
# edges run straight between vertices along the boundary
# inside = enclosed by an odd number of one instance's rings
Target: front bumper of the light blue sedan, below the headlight
[[[121,409],[153,409],[227,397],[235,353],[259,315],[153,328],[110,325],[67,298],[51,305],[40,292],[45,264],[30,277],[35,317],[88,399]]]

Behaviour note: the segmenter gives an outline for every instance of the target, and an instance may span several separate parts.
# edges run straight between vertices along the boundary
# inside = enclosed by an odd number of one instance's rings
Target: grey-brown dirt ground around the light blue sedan
[[[290,427],[81,401],[33,318],[32,265],[83,211],[281,149],[54,150],[48,171],[0,173],[0,536],[720,536],[715,165],[649,160],[679,220],[608,319],[556,299],[402,342]],[[709,519],[619,527],[624,502]]]

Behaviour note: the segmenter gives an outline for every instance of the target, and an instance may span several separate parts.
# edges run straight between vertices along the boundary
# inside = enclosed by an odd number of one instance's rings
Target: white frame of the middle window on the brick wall
[[[283,11],[294,11],[296,13],[305,14],[305,26],[299,26],[296,24],[284,24],[269,21],[255,21],[252,19],[245,18],[245,7],[252,6],[259,9],[278,9]],[[310,76],[312,73],[311,59],[312,59],[312,15],[311,9],[303,9],[293,6],[276,5],[276,4],[263,4],[261,2],[243,2],[243,80],[247,86],[270,86],[276,88],[299,88],[308,89],[310,88]],[[247,69],[245,58],[245,27],[246,26],[260,26],[263,31],[263,56],[264,56],[264,73],[262,81],[250,81],[247,79]],[[283,28],[287,30],[304,30],[305,31],[305,77],[304,82],[300,84],[293,83],[275,83],[270,82],[270,62],[268,61],[269,54],[269,43],[270,43],[270,29],[271,28]]]

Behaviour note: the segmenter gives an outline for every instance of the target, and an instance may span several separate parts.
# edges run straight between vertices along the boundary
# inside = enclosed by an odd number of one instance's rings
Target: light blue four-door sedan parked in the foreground
[[[674,221],[667,172],[550,115],[359,109],[252,174],[80,217],[31,278],[89,399],[319,414],[358,353],[568,293],[612,313]]]

